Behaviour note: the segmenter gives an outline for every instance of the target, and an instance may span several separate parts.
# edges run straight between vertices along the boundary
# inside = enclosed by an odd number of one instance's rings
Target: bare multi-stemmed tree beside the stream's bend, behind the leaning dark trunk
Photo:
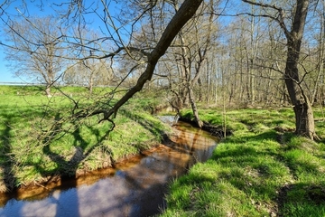
[[[168,12],[163,10],[163,15],[168,17],[171,13],[177,12],[179,5],[181,5],[180,1],[173,1],[170,3]],[[158,14],[159,11],[156,13]],[[171,48],[162,58],[161,71],[157,72],[170,83],[170,90],[174,95],[170,100],[172,107],[180,110],[190,105],[199,127],[202,127],[203,122],[200,121],[196,99],[202,98],[200,77],[213,41],[211,39],[214,36],[213,20],[213,1],[209,1],[209,4],[203,4],[200,7],[200,12],[191,18],[177,34]],[[163,28],[162,23],[163,21],[158,21],[154,26],[144,29],[143,32],[146,35],[150,33],[149,38],[154,38],[154,33]],[[199,88],[197,88],[198,84]],[[199,90],[199,96],[196,96],[195,90]]]

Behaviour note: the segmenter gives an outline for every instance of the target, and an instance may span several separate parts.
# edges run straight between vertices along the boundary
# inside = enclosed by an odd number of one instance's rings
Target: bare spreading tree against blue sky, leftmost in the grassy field
[[[11,69],[17,76],[44,83],[48,97],[64,65],[61,32],[52,16],[10,21],[5,30],[5,56]]]

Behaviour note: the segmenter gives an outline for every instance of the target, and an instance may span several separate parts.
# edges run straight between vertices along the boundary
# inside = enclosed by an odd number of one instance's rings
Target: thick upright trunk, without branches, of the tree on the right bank
[[[302,46],[302,34],[306,21],[309,0],[298,0],[297,8],[294,14],[291,33],[287,33],[288,52],[284,71],[284,80],[286,88],[292,102],[296,134],[304,137],[315,137],[315,126],[311,102],[302,91],[301,81],[299,79],[298,62]]]

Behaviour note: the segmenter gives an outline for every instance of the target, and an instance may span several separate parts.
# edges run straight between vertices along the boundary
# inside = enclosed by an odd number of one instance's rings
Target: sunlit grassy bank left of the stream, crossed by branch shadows
[[[66,88],[79,105],[93,105],[86,89]],[[104,96],[105,90],[96,90]],[[70,99],[59,90],[47,98],[40,87],[0,86],[0,192],[42,183],[55,175],[79,175],[156,144],[169,128],[150,115],[155,102],[135,98],[112,123],[99,116],[69,118]],[[67,118],[68,117],[68,118]]]

